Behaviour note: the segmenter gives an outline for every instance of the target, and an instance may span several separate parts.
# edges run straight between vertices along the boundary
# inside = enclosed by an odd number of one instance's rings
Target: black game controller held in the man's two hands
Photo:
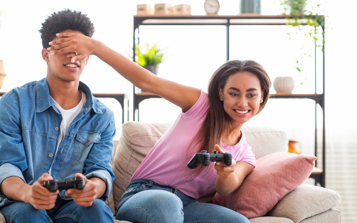
[[[56,190],[64,190],[69,188],[76,188],[82,190],[85,185],[84,178],[74,178],[67,180],[47,180],[43,182],[43,186],[45,186],[49,191],[55,192]]]

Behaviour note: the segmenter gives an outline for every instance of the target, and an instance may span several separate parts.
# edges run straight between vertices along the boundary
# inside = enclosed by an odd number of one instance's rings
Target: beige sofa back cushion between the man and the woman
[[[162,123],[123,123],[122,135],[113,152],[113,172],[116,176],[112,186],[113,212],[135,170],[168,127],[169,124]]]

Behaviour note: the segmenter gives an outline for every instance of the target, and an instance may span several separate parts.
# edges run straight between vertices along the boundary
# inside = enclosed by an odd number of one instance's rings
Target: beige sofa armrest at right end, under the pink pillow
[[[303,183],[286,194],[267,215],[300,222],[335,208],[340,202],[341,196],[337,191]]]

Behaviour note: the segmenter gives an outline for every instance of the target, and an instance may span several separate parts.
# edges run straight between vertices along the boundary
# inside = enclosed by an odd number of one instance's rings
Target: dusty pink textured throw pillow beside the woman
[[[310,176],[316,158],[288,152],[258,158],[256,168],[236,191],[227,196],[216,193],[212,203],[233,209],[247,218],[264,216]]]

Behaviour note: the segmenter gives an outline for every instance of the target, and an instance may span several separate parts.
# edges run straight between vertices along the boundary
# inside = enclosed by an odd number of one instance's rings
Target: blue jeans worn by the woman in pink
[[[118,205],[116,219],[132,222],[239,222],[242,214],[223,206],[198,202],[181,191],[150,180],[133,180]]]

